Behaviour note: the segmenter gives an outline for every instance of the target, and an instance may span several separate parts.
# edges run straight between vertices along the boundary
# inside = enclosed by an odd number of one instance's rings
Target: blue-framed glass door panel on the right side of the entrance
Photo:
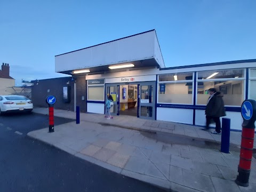
[[[140,83],[140,118],[155,119],[155,82]]]

